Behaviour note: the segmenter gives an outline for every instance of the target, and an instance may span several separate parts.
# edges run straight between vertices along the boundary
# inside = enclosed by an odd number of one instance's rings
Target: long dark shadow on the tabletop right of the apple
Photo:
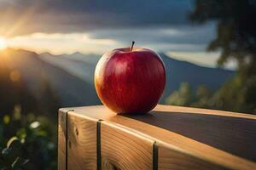
[[[122,115],[256,161],[256,120],[172,111]]]

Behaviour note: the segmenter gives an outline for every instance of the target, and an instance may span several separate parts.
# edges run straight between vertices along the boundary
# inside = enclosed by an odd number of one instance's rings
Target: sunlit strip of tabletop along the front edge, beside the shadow
[[[248,161],[239,156],[232,155],[224,150],[218,150],[217,148],[214,148],[208,144],[204,144],[194,139],[184,137],[179,133],[173,133],[170,129],[166,130],[164,128],[157,127],[156,125],[150,125],[148,122],[139,122],[135,119],[131,119],[124,116],[113,116],[108,121],[115,122],[125,127],[130,127],[131,129],[135,129],[137,133],[140,133],[141,135],[147,135],[149,137],[154,138],[155,141],[166,143],[172,146],[172,150],[177,150],[184,154],[197,157],[198,159],[209,161],[212,162],[213,164],[218,164],[222,167],[232,169],[253,169],[256,167],[256,163],[253,161]],[[187,130],[193,130],[193,128]],[[204,137],[207,138],[207,136],[211,135],[212,134],[209,133]],[[231,142],[230,139],[230,144],[232,143],[236,144],[236,140],[233,140]],[[250,144],[253,144],[253,141],[250,141]],[[246,147],[239,149],[247,150]],[[252,150],[254,149],[252,148]]]

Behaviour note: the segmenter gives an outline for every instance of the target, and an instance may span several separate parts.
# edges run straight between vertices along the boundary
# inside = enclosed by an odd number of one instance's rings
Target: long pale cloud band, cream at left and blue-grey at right
[[[204,51],[215,37],[215,24],[205,26],[172,26],[150,28],[103,29],[74,33],[33,33],[9,37],[9,46],[26,48],[38,53],[103,54],[113,48],[123,48],[136,42],[137,47],[151,48],[158,52]]]

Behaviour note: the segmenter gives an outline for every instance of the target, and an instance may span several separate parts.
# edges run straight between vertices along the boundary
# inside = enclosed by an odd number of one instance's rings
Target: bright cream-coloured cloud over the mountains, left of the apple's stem
[[[33,33],[31,35],[10,37],[8,46],[23,48],[37,53],[49,52],[52,54],[103,54],[116,48],[118,42],[107,38],[90,38],[86,33]]]

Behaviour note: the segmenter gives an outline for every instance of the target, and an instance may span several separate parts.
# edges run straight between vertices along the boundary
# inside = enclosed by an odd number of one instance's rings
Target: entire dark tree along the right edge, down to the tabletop
[[[236,77],[212,96],[211,107],[242,112],[256,110],[256,1],[196,0],[195,23],[217,21],[217,37],[208,51],[221,50],[218,65],[235,59]]]

